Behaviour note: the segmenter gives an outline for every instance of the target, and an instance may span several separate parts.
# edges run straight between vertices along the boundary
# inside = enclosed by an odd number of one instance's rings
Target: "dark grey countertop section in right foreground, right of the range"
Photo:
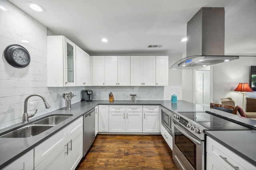
[[[256,166],[256,131],[206,131],[206,135]],[[206,140],[207,142],[207,140]]]

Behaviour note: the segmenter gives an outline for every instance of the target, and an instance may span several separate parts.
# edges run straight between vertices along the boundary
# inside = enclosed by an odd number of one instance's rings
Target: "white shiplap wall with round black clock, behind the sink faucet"
[[[24,99],[30,94],[41,94],[51,106],[45,109],[40,98],[30,98],[29,102],[37,101],[36,116],[64,107],[63,93],[78,94],[72,103],[79,102],[84,87],[47,88],[47,28],[7,0],[0,0],[0,5],[8,10],[0,10],[0,129],[21,122]],[[21,43],[23,39],[29,43]],[[28,50],[29,66],[14,68],[6,62],[3,52],[11,44]],[[34,111],[28,109],[28,113]]]

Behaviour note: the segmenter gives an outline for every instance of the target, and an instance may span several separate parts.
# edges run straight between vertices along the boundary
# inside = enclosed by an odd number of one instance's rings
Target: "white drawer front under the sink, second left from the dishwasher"
[[[40,145],[34,148],[34,168],[45,160],[52,152],[67,140],[67,128],[62,129]]]

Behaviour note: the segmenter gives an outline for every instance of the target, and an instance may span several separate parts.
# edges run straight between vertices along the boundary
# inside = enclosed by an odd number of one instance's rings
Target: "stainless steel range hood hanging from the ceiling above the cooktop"
[[[224,8],[201,8],[187,24],[186,58],[170,69],[193,69],[239,59],[224,55]]]

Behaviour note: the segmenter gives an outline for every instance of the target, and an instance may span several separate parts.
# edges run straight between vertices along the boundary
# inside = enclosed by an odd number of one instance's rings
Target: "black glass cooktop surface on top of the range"
[[[206,112],[178,112],[208,130],[251,130],[232,121]]]

